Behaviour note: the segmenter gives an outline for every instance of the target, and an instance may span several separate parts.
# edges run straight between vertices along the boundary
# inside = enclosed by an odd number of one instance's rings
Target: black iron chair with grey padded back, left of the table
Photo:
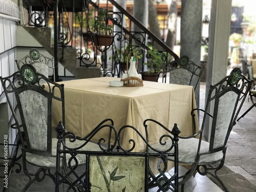
[[[55,181],[51,168],[56,167],[57,138],[52,138],[52,106],[53,102],[60,102],[62,117],[60,120],[65,125],[65,102],[63,84],[58,84],[42,74],[36,72],[32,65],[25,64],[20,71],[8,77],[0,77],[7,102],[12,112],[13,129],[17,129],[22,143],[22,161],[24,173],[29,177],[29,182],[24,187],[26,191],[34,181],[41,182],[45,176]],[[44,80],[44,84],[41,84]],[[11,103],[15,100],[16,106]],[[107,120],[103,121],[105,123]],[[112,120],[110,120],[112,122]],[[100,124],[101,125],[101,124]],[[99,125],[99,126],[100,126]],[[22,131],[24,136],[22,136]],[[67,143],[70,143],[67,141]],[[75,143],[71,143],[76,147]],[[80,146],[80,144],[79,144]],[[89,149],[88,149],[88,148]],[[100,150],[95,143],[88,143],[84,150]],[[85,163],[86,158],[78,155],[78,164]],[[70,157],[65,157],[69,161]],[[72,160],[70,163],[74,163]],[[30,167],[28,165],[30,164]],[[65,169],[61,162],[60,166]],[[31,165],[32,168],[31,168]],[[34,168],[38,167],[34,172]],[[31,171],[32,170],[32,171]]]

